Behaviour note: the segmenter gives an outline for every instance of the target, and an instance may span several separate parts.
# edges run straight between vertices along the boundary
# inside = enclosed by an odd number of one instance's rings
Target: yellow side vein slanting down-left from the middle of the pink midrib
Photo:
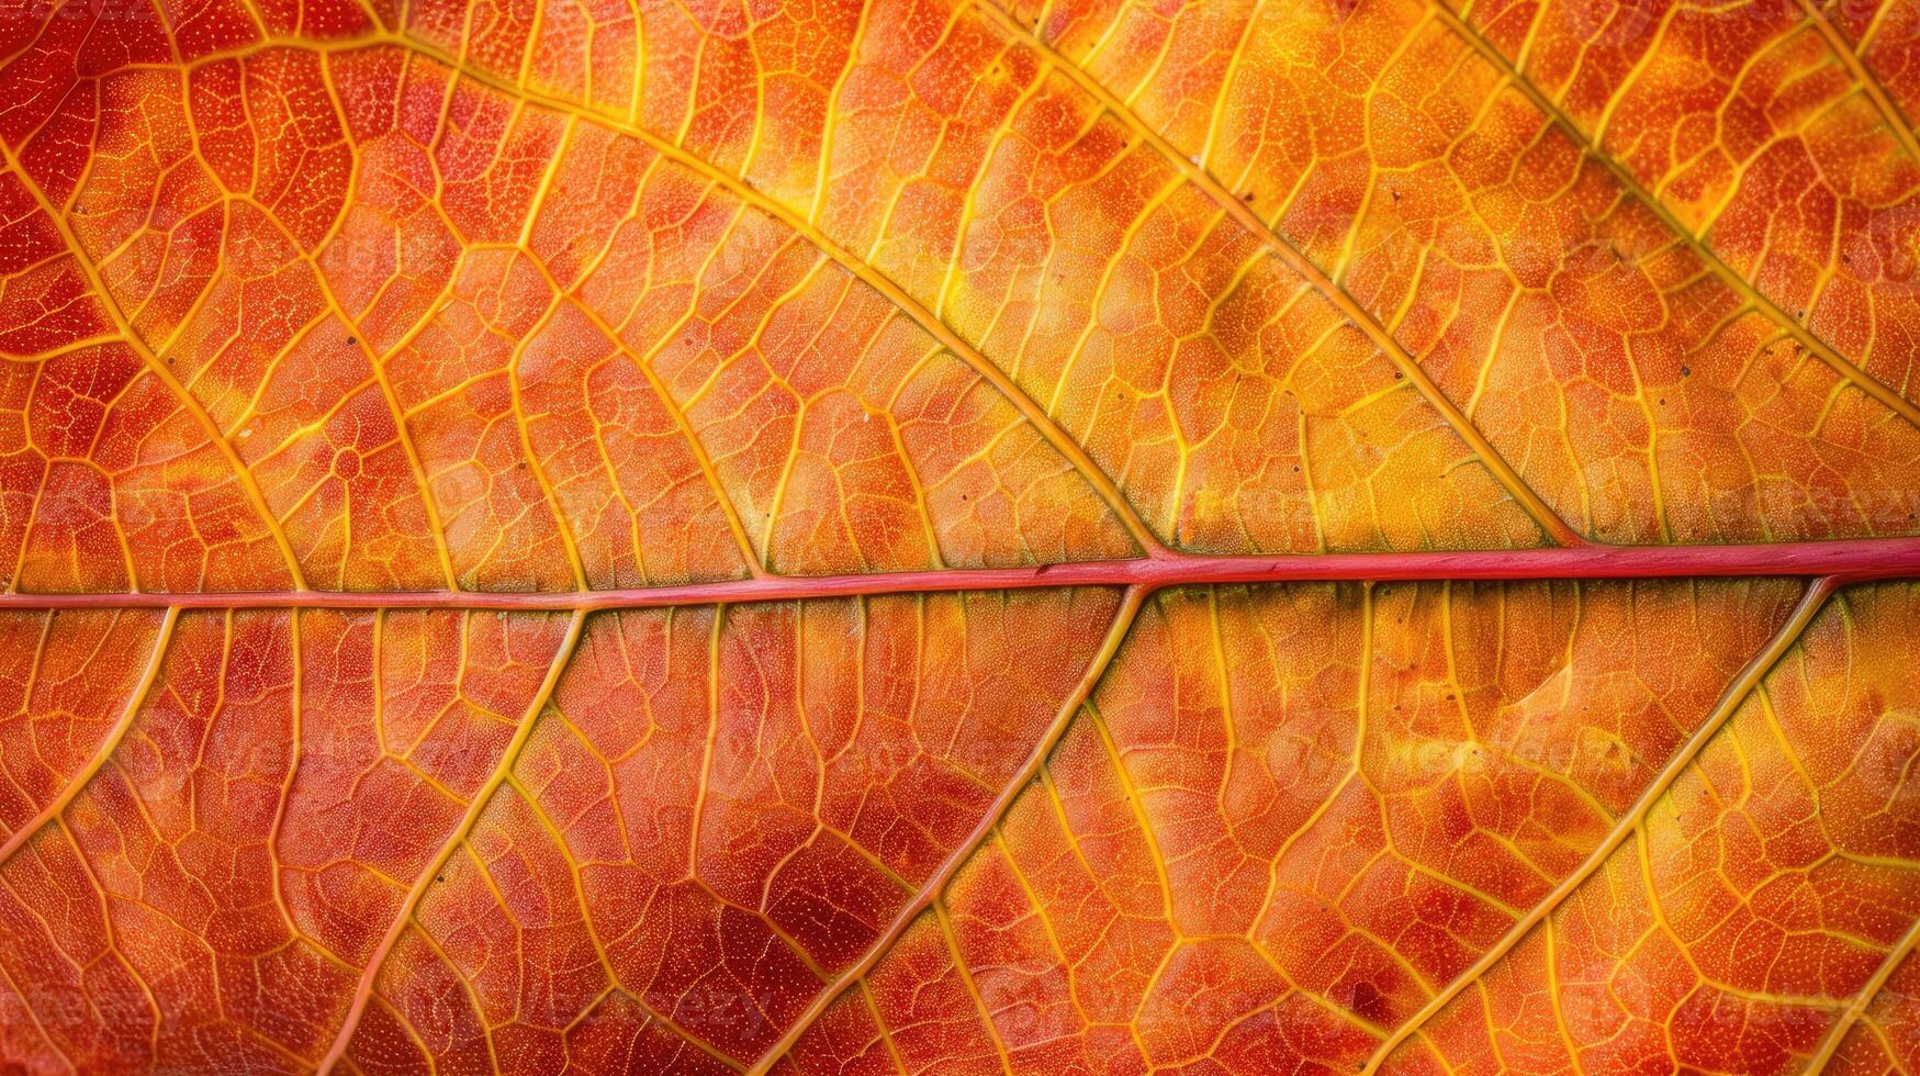
[[[970,832],[966,840],[947,853],[947,859],[933,868],[933,874],[920,888],[920,893],[893,917],[893,922],[889,922],[887,930],[883,930],[881,936],[866,947],[866,953],[862,953],[851,968],[841,972],[839,978],[826,984],[826,988],[814,995],[814,1001],[797,1020],[793,1020],[787,1032],[780,1036],[780,1041],[768,1047],[766,1053],[760,1055],[760,1061],[747,1070],[751,1076],[766,1076],[774,1063],[785,1057],[785,1053],[801,1041],[801,1036],[806,1034],[806,1028],[814,1026],[814,1020],[818,1020],[822,1013],[847,993],[849,988],[866,978],[876,965],[879,965],[881,957],[893,949],[893,943],[900,938],[900,934],[906,934],[906,928],[920,918],[920,913],[933,907],[933,901],[937,901],[941,892],[947,888],[947,880],[952,878],[954,872],[960,870],[960,865],[973,855],[973,849],[993,834],[1008,807],[1014,805],[1014,799],[1020,797],[1020,794],[1027,788],[1027,782],[1031,782],[1033,776],[1041,772],[1041,767],[1046,765],[1046,755],[1050,755],[1054,744],[1066,736],[1068,726],[1073,724],[1073,715],[1079,713],[1087,696],[1092,694],[1094,684],[1098,684],[1100,676],[1106,674],[1106,667],[1112,665],[1114,655],[1119,653],[1119,644],[1125,642],[1127,628],[1133,626],[1133,617],[1140,611],[1140,601],[1144,598],[1144,588],[1127,588],[1127,594],[1119,601],[1119,609],[1114,611],[1114,624],[1106,630],[1106,640],[1100,642],[1100,649],[1092,655],[1092,661],[1087,663],[1087,671],[1081,674],[1079,684],[1075,684],[1073,692],[1068,694],[1064,703],[1060,703],[1060,711],[1054,715],[1052,724],[1046,726],[1046,732],[1041,734],[1039,744],[1033,746],[1027,761],[1021,763],[1020,769],[1006,780],[1000,795],[987,805],[987,811],[973,826],[973,832]]]

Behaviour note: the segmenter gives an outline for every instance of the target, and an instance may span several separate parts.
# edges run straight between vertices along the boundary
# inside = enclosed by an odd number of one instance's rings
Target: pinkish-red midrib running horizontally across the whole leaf
[[[1008,569],[924,569],[870,575],[762,576],[584,592],[482,590],[238,590],[0,594],[0,609],[643,609],[797,601],[866,594],[1029,590],[1037,586],[1164,586],[1313,580],[1500,580],[1837,576],[1841,582],[1920,576],[1920,536],[1745,546],[1571,546],[1419,553],[1198,555],[1156,553]]]

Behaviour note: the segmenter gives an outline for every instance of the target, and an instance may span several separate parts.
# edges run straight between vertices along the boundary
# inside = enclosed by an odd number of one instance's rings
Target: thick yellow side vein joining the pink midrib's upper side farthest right
[[[1238,223],[1254,238],[1261,240],[1269,250],[1273,250],[1273,254],[1279,256],[1279,259],[1284,261],[1288,269],[1304,277],[1309,284],[1313,284],[1317,292],[1327,296],[1327,300],[1332,302],[1334,307],[1338,307],[1340,313],[1346,315],[1346,319],[1352,321],[1356,329],[1365,332],[1367,338],[1373,342],[1373,346],[1379,348],[1394,363],[1394,369],[1398,369],[1402,375],[1405,375],[1409,382],[1413,382],[1413,388],[1419,390],[1421,398],[1425,398],[1430,407],[1440,411],[1440,415],[1448,421],[1448,425],[1453,427],[1453,432],[1459,434],[1463,442],[1467,442],[1467,446],[1475,452],[1475,455],[1480,457],[1480,463],[1488,471],[1492,471],[1494,478],[1501,486],[1505,486],[1507,494],[1515,501],[1519,501],[1523,509],[1526,509],[1526,513],[1534,519],[1536,525],[1540,525],[1542,530],[1553,536],[1553,540],[1559,542],[1561,546],[1586,544],[1586,540],[1580,538],[1572,530],[1572,526],[1569,526],[1567,521],[1561,519],[1559,513],[1555,513],[1546,503],[1546,500],[1542,500],[1540,494],[1536,494],[1532,486],[1528,486],[1519,477],[1517,471],[1513,471],[1513,465],[1509,465],[1507,459],[1500,455],[1498,450],[1494,450],[1494,446],[1486,440],[1480,428],[1475,427],[1465,413],[1461,413],[1459,405],[1455,405],[1444,392],[1440,392],[1440,386],[1427,377],[1427,371],[1421,367],[1419,359],[1415,359],[1404,346],[1400,346],[1400,340],[1396,340],[1394,334],[1388,332],[1386,327],[1380,325],[1380,321],[1373,317],[1373,313],[1359,304],[1359,300],[1356,300],[1352,294],[1348,294],[1346,288],[1334,282],[1332,277],[1321,271],[1321,267],[1315,265],[1306,254],[1302,254],[1286,236],[1279,234],[1265,221],[1261,221],[1260,215],[1254,213],[1254,209],[1248,208],[1244,200],[1236,198],[1231,190],[1227,190],[1225,184],[1221,184],[1221,181],[1215,179],[1212,171],[1194,163],[1192,158],[1183,154],[1177,146],[1167,142],[1165,136],[1148,127],[1139,115],[1133,113],[1131,108],[1127,108],[1125,102],[1114,96],[1114,92],[1108,90],[1098,79],[1081,71],[1079,65],[1054,52],[1050,44],[1046,44],[1031,31],[1021,27],[1006,12],[995,8],[989,0],[975,0],[975,4],[981,12],[987,13],[989,21],[993,21],[1002,31],[1014,35],[1023,44],[1035,48],[1041,56],[1044,56],[1054,69],[1064,73],[1068,79],[1073,81],[1073,85],[1077,85],[1081,90],[1085,90],[1096,102],[1100,102],[1100,108],[1110,111],[1116,119],[1125,123],[1135,134],[1146,140],[1146,144],[1158,150],[1160,156],[1167,159],[1167,163],[1179,169],[1179,173],[1188,183],[1198,186],[1202,194],[1206,194],[1221,209],[1225,209],[1227,215],[1235,219],[1235,223]],[[1221,88],[1223,96],[1225,92],[1227,90]]]

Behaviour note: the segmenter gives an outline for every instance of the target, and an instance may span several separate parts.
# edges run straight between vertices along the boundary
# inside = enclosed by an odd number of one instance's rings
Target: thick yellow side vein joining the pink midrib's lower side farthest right
[[[1615,826],[1607,832],[1607,838],[1601,840],[1592,853],[1588,853],[1588,857],[1580,863],[1580,867],[1572,870],[1572,874],[1563,878],[1559,886],[1553,886],[1553,890],[1540,903],[1528,909],[1524,917],[1521,917],[1505,934],[1501,934],[1500,940],[1494,942],[1494,945],[1486,949],[1486,953],[1482,953],[1478,961],[1473,963],[1473,966],[1455,976],[1453,982],[1446,984],[1438,993],[1434,993],[1427,1001],[1427,1005],[1421,1007],[1419,1013],[1409,1016],[1404,1024],[1400,1024],[1400,1028],[1396,1028],[1390,1036],[1386,1036],[1386,1039],[1380,1041],[1380,1047],[1373,1053],[1373,1057],[1367,1059],[1361,1076],[1371,1076],[1373,1072],[1379,1072],[1380,1064],[1386,1063],[1386,1059],[1394,1053],[1396,1047],[1400,1047],[1400,1043],[1404,1043],[1409,1036],[1419,1032],[1421,1026],[1427,1024],[1427,1020],[1430,1020],[1434,1015],[1446,1009],[1446,1005],[1453,1001],[1453,997],[1461,990],[1478,982],[1478,978],[1486,974],[1494,965],[1498,965],[1515,945],[1519,945],[1521,940],[1526,938],[1526,934],[1530,934],[1534,926],[1542,924],[1553,913],[1553,909],[1557,909],[1561,901],[1567,899],[1567,895],[1578,890],[1582,882],[1586,882],[1596,870],[1599,870],[1607,863],[1613,851],[1619,849],[1622,842],[1626,842],[1628,834],[1640,828],[1647,813],[1667,794],[1672,782],[1680,778],[1680,774],[1688,769],[1688,765],[1692,765],[1693,759],[1701,753],[1701,749],[1715,738],[1715,734],[1720,732],[1720,726],[1724,726],[1728,719],[1734,717],[1734,711],[1738,711],[1740,705],[1753,692],[1753,688],[1759,686],[1761,678],[1766,676],[1766,672],[1772,671],[1774,663],[1780,661],[1780,657],[1788,651],[1788,648],[1791,648],[1793,642],[1799,640],[1801,632],[1820,611],[1820,607],[1826,603],[1826,598],[1834,592],[1836,586],[1837,580],[1834,576],[1822,576],[1807,588],[1807,594],[1801,596],[1799,605],[1793,607],[1793,615],[1788,617],[1788,623],[1782,624],[1780,630],[1774,632],[1770,640],[1766,640],[1766,646],[1759,653],[1747,659],[1747,665],[1741,667],[1740,674],[1734,676],[1734,680],[1726,686],[1726,692],[1720,696],[1720,701],[1715,703],[1707,719],[1701,721],[1699,728],[1693,730],[1693,736],[1690,736],[1688,742],[1682,744],[1678,751],[1674,751],[1672,759],[1667,761],[1661,772],[1653,776],[1653,782],[1647,784],[1645,792],[1640,794],[1640,799],[1636,799],[1634,805],[1624,815],[1620,815],[1620,820],[1615,822]],[[1551,924],[1548,924],[1548,928],[1551,930]]]

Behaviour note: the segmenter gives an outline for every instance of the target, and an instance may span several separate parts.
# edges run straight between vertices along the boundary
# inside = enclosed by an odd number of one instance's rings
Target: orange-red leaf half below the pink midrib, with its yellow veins
[[[1866,1070],[1910,1032],[1916,615],[1780,580],[12,613],[0,1051]]]

